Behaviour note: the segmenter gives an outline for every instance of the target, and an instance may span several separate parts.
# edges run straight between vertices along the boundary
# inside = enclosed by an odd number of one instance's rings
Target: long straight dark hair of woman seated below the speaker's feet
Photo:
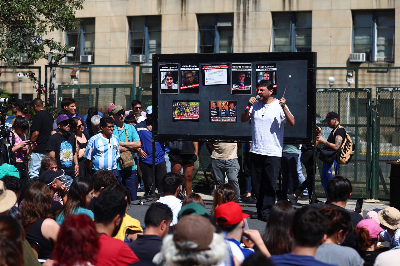
[[[271,255],[290,253],[292,242],[288,234],[292,227],[294,208],[288,201],[278,201],[268,216],[262,240]]]

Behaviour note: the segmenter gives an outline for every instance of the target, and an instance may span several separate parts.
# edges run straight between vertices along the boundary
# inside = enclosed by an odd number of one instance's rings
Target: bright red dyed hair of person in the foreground
[[[53,266],[92,266],[96,264],[99,234],[89,216],[70,215],[58,232],[53,249]]]

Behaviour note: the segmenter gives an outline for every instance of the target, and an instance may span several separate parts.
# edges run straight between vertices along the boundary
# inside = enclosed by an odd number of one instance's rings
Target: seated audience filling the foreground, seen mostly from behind
[[[30,179],[19,207],[22,181],[2,177],[1,265],[397,265],[399,210],[375,209],[363,219],[344,209],[352,191],[346,177],[328,181],[328,204],[295,211],[288,200],[278,201],[262,234],[249,229],[250,215],[229,184],[217,188],[210,211],[196,193],[182,201],[182,175],[167,173],[164,196],[140,224],[126,213],[130,192],[109,171],[96,171],[92,180],[76,177],[68,193],[63,177],[54,167]]]

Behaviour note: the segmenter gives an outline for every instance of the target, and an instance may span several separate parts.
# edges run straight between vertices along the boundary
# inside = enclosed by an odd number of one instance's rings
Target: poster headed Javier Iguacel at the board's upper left
[[[178,64],[160,64],[161,93],[179,93]]]

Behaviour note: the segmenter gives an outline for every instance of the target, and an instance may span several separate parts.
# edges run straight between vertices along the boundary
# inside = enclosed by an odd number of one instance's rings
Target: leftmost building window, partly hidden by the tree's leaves
[[[65,43],[75,47],[75,61],[72,62],[80,62],[80,56],[91,56],[91,62],[94,62],[94,25],[94,18],[84,18],[80,25],[66,33]]]

